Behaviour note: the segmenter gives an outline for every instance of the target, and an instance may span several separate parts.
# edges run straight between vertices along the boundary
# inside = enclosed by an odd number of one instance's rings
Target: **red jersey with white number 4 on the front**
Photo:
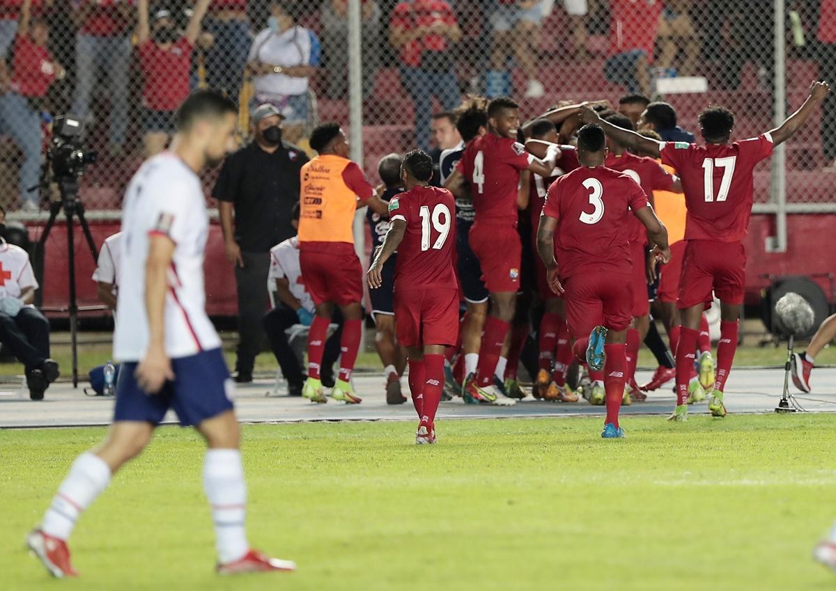
[[[494,134],[467,146],[456,166],[471,186],[474,222],[517,225],[520,171],[533,159],[523,144]]]

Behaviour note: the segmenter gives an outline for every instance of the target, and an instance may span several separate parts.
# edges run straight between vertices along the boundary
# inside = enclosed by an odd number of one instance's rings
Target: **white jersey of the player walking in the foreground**
[[[203,258],[208,233],[206,201],[194,171],[170,152],[145,161],[130,180],[122,208],[116,359],[140,361],[148,347],[145,260],[151,234],[166,235],[175,244],[166,294],[166,355],[186,357],[221,346],[206,316]]]

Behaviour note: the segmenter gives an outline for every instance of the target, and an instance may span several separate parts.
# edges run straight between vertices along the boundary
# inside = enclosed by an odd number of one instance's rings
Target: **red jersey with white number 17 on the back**
[[[660,153],[662,163],[673,166],[682,179],[685,240],[743,240],[754,202],[752,170],[772,155],[772,136],[705,146],[665,142]]]

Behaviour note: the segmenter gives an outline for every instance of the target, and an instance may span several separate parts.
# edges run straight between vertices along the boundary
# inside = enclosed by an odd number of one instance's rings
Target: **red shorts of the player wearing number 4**
[[[512,225],[473,224],[468,235],[471,250],[482,267],[482,281],[490,293],[520,289],[523,245]]]

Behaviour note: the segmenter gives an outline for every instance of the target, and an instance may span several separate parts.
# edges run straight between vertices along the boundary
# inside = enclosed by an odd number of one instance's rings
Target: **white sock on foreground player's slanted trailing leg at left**
[[[93,503],[108,482],[110,467],[104,460],[91,452],[81,454],[43,515],[43,533],[62,540],[69,538],[81,512]]]

